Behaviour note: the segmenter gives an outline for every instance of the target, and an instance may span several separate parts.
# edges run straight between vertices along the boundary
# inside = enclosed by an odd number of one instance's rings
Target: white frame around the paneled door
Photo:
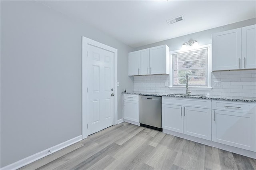
[[[117,49],[82,36],[82,138],[88,136],[88,45],[114,53],[114,125],[117,124]]]

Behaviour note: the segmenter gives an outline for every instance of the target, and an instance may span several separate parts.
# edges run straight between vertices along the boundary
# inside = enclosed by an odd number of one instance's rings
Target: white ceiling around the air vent
[[[40,1],[139,47],[256,17],[256,1]],[[166,20],[183,15],[168,25]]]

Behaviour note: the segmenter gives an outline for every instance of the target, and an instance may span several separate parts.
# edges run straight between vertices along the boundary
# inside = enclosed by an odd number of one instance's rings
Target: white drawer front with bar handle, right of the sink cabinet
[[[212,100],[212,109],[256,114],[256,103]]]

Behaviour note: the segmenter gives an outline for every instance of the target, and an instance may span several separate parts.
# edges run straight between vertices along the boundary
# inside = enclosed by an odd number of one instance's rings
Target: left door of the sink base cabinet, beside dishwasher
[[[182,107],[162,104],[162,128],[183,133]]]

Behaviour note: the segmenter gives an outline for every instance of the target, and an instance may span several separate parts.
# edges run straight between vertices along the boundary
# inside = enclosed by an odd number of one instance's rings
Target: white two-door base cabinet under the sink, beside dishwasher
[[[182,101],[184,103],[182,106],[170,105],[170,103],[182,103]],[[188,107],[188,105],[191,105],[193,102],[197,102],[198,107],[200,107],[200,105],[202,105],[201,107],[209,106],[209,109]],[[210,102],[210,100],[184,100],[162,97],[162,128],[211,140]]]

